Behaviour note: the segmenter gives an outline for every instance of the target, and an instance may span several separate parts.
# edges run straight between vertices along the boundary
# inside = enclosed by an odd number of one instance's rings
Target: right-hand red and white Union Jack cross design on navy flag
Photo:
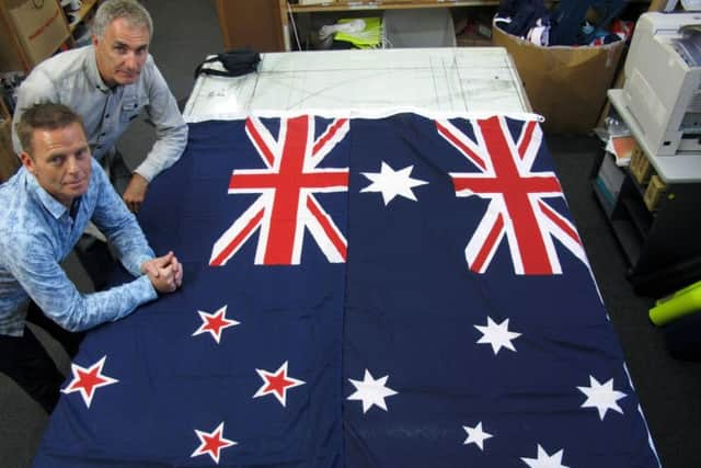
[[[504,117],[478,119],[470,125],[474,137],[449,121],[436,122],[438,134],[479,170],[450,174],[457,196],[490,199],[466,248],[470,270],[484,273],[504,239],[517,274],[561,274],[553,239],[586,264],[574,225],[544,202],[564,197],[555,174],[532,169],[542,145],[540,126],[526,122],[514,138]]]

